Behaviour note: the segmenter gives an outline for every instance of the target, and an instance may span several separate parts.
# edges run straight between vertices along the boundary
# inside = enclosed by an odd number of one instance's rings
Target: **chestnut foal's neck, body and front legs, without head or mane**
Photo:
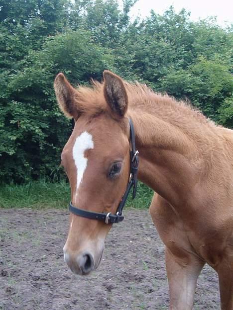
[[[135,129],[138,177],[156,191],[150,214],[166,246],[171,309],[192,309],[197,277],[207,262],[219,274],[222,309],[232,310],[233,131],[202,117],[186,127],[189,115],[179,118],[174,131],[176,119],[168,120],[166,113],[164,107],[160,119],[150,117],[148,124],[148,117],[138,120],[141,113],[129,112],[141,126]],[[160,145],[161,137],[166,145]]]

